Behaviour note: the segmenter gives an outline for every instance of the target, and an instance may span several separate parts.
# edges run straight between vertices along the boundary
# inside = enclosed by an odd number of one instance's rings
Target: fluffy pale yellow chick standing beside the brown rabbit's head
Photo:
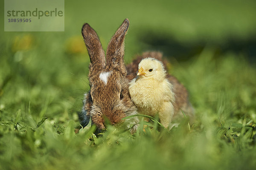
[[[168,127],[174,115],[175,93],[166,78],[163,63],[155,58],[142,59],[137,78],[130,82],[131,100],[138,112],[149,116],[158,114],[160,122]]]

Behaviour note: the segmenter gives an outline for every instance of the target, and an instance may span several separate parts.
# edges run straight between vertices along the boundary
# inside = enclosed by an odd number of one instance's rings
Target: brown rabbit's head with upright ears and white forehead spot
[[[105,123],[111,125],[131,126],[137,118],[122,118],[136,114],[136,108],[131,102],[128,91],[129,80],[124,64],[124,39],[129,27],[129,20],[122,25],[111,38],[106,56],[96,32],[84,24],[82,35],[90,56],[89,82],[90,91],[85,95],[82,109],[81,125],[86,126],[90,120],[98,129],[105,128]]]

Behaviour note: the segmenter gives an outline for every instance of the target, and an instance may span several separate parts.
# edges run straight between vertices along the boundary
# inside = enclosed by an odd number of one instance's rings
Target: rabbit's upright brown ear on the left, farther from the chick
[[[99,68],[105,68],[105,54],[97,33],[89,24],[85,23],[82,27],[82,35],[90,56],[90,71],[92,72],[95,69],[99,70]]]

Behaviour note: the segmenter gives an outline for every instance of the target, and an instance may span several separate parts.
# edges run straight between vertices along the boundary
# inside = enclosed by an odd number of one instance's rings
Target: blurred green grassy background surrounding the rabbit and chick
[[[0,169],[254,169],[255,9],[253,0],[66,0],[64,32],[4,32],[2,15]],[[125,18],[125,62],[163,52],[195,107],[190,129],[184,120],[134,136],[73,132],[89,90],[81,26],[106,49]]]

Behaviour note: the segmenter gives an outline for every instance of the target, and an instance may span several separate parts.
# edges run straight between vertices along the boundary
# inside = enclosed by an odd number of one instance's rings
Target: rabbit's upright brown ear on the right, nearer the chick
[[[116,68],[126,75],[126,68],[124,63],[124,40],[125,34],[127,33],[129,27],[129,20],[125,19],[122,25],[118,28],[116,33],[111,38],[107,53],[106,53],[106,65],[112,68]]]

